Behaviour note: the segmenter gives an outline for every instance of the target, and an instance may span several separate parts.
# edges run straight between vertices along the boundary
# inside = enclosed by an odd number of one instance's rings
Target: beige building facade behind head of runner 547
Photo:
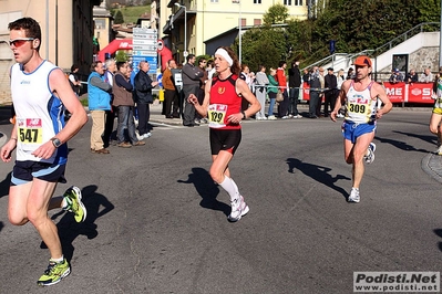
[[[73,63],[89,73],[92,63],[92,8],[101,0],[0,0],[0,104],[10,102],[9,69],[14,63],[9,48],[8,23],[31,17],[41,27],[40,54],[69,71]]]

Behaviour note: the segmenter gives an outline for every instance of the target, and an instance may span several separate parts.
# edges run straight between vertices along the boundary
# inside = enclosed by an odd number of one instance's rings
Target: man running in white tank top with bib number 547
[[[86,217],[78,187],[68,189],[63,197],[53,197],[53,193],[59,181],[65,182],[65,143],[82,128],[88,116],[64,73],[40,56],[39,23],[22,18],[9,23],[8,29],[10,49],[17,62],[10,72],[17,119],[10,140],[0,150],[1,159],[9,162],[17,149],[8,217],[14,225],[31,222],[47,244],[51,259],[37,282],[47,286],[59,283],[71,272],[48,210],[63,208],[73,212],[78,222]],[[72,114],[65,126],[62,104]]]

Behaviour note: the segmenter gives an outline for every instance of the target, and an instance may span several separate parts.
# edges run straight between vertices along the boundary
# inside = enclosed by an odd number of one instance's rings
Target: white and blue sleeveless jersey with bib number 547
[[[68,146],[63,144],[49,159],[32,153],[64,127],[63,104],[49,87],[49,74],[55,65],[43,61],[32,73],[24,73],[21,64],[11,69],[11,95],[16,109],[17,160],[49,164],[66,162]]]

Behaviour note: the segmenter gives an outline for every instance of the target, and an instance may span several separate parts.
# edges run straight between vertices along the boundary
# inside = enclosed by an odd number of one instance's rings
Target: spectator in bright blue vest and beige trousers
[[[89,111],[92,117],[91,151],[95,154],[109,154],[104,148],[102,135],[104,133],[105,112],[111,111],[112,86],[104,82],[104,67],[101,61],[91,65],[92,73],[88,78]]]

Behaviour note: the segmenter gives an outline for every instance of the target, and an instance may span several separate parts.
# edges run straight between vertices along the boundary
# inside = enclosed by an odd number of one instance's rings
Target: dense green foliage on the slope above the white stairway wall
[[[318,0],[312,11],[312,19],[287,20],[286,7],[270,7],[265,25],[241,36],[243,63],[253,71],[260,63],[275,67],[279,60],[307,65],[330,55],[330,40],[337,53],[377,49],[422,22],[440,22],[441,8],[439,0]],[[271,27],[278,23],[287,25]],[[238,40],[233,49],[238,52]]]

